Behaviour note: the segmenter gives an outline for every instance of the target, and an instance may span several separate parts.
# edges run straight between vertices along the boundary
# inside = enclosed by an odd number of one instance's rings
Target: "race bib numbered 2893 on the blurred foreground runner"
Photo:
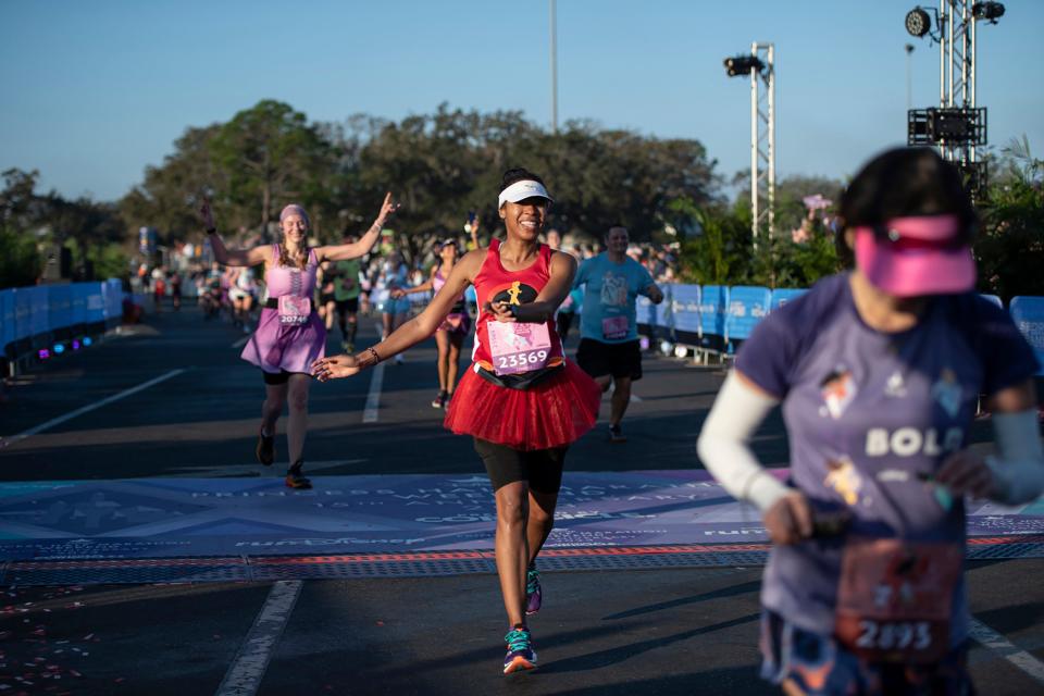
[[[849,539],[837,588],[837,641],[871,661],[942,659],[962,560],[955,543]]]

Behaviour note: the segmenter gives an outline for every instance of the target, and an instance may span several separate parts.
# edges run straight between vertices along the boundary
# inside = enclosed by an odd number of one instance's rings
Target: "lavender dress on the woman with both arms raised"
[[[283,295],[312,298],[315,294],[315,271],[319,261],[315,250],[308,252],[304,270],[279,265],[279,247],[272,245],[272,262],[264,272],[269,298]],[[279,311],[265,307],[261,321],[239,356],[264,372],[311,372],[312,361],[326,356],[326,327],[314,308],[303,324],[283,324]]]

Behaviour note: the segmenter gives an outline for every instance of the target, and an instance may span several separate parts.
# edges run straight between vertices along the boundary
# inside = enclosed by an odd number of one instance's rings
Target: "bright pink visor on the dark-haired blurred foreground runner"
[[[950,295],[975,286],[975,262],[956,215],[896,217],[855,233],[856,265],[890,295]]]

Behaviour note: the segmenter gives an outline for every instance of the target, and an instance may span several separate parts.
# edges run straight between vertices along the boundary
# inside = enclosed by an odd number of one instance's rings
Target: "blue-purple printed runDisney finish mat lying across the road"
[[[776,470],[785,475],[784,470]],[[485,550],[485,475],[0,484],[0,560]],[[757,510],[703,470],[567,473],[547,548],[758,543]],[[971,536],[1044,533],[1044,502],[969,505]]]

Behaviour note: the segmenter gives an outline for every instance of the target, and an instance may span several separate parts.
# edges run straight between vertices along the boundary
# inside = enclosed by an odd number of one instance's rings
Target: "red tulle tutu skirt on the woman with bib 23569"
[[[600,403],[601,389],[572,362],[529,389],[497,386],[472,365],[453,391],[444,425],[512,449],[549,449],[594,427]]]

